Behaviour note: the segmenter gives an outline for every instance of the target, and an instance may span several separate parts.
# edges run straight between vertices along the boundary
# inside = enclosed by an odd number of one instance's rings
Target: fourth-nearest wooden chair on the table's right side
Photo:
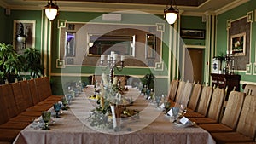
[[[211,86],[204,86],[201,91],[201,98],[197,107],[196,112],[187,112],[185,113],[185,117],[187,118],[200,118],[206,117],[207,111],[209,108],[209,104],[212,97],[212,87]]]

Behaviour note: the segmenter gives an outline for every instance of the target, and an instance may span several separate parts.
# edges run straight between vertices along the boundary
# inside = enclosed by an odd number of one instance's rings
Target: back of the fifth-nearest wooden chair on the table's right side
[[[192,90],[192,94],[189,99],[189,104],[187,107],[187,112],[195,112],[198,100],[201,95],[201,84],[195,84]]]

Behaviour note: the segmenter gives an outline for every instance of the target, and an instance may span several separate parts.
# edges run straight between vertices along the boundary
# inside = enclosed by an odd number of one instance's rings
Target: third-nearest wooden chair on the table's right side
[[[223,107],[225,90],[220,88],[213,89],[210,107],[207,112],[207,118],[190,118],[196,124],[214,124],[218,123],[220,112]]]

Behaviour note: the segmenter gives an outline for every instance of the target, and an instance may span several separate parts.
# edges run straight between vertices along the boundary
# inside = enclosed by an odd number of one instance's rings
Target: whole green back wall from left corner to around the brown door
[[[4,9],[0,9],[4,12]],[[102,13],[89,13],[89,12],[64,12],[61,11],[60,14],[56,17],[55,20],[49,22],[45,19],[43,10],[12,10],[11,15],[1,16],[1,19],[5,17],[4,29],[6,33],[5,42],[12,43],[13,38],[13,22],[14,20],[36,20],[36,49],[40,49],[42,52],[42,58],[46,56],[47,64],[44,67],[46,69],[47,75],[51,76],[51,83],[54,95],[62,95],[63,87],[67,81],[78,81],[80,78],[83,81],[88,81],[88,75],[94,74],[94,66],[66,66],[66,68],[56,68],[56,59],[59,58],[59,35],[60,31],[58,28],[58,20],[67,20],[70,22],[93,22],[97,23],[106,23],[102,21],[101,18],[98,18]],[[155,17],[154,17],[155,16]],[[191,24],[191,20],[195,22]],[[191,28],[191,29],[205,29],[205,24],[201,22],[201,17],[189,17],[184,16],[181,19],[182,28]],[[122,72],[116,72],[116,74],[125,74],[125,75],[137,75],[140,78],[143,77],[146,73],[152,71],[156,75],[157,80],[156,84],[160,86],[158,89],[160,94],[166,94],[169,81],[168,81],[168,72],[172,72],[172,66],[169,66],[169,32],[170,27],[166,24],[166,21],[163,20],[162,15],[151,15],[151,14],[122,14],[121,22],[112,22],[119,24],[131,24],[131,25],[155,25],[156,23],[165,23],[165,32],[163,32],[163,49],[162,49],[162,58],[165,62],[164,70],[165,71],[154,71],[154,69],[149,68],[125,68]],[[1,24],[3,25],[3,24]],[[50,33],[51,32],[51,33]],[[44,38],[46,37],[46,39]],[[50,38],[50,39],[49,39]],[[46,42],[46,43],[45,43]],[[202,40],[188,40],[189,44],[200,44],[204,45]],[[49,49],[51,48],[51,49]],[[47,49],[47,50],[44,50]],[[172,53],[171,53],[172,54]],[[50,66],[50,72],[49,72]],[[175,67],[174,67],[175,68]],[[84,76],[75,76],[73,74],[81,73]],[[64,76],[63,76],[64,75]],[[66,75],[66,76],[65,76]],[[68,75],[68,76],[67,76]],[[86,76],[85,76],[86,75]]]

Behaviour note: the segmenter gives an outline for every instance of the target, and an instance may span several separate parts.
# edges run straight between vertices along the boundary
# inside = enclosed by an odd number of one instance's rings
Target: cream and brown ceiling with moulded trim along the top
[[[53,0],[55,2],[55,0]],[[57,0],[60,11],[89,11],[163,14],[171,0]],[[250,0],[174,0],[183,15],[221,14]],[[44,9],[47,0],[0,0],[9,9]]]

